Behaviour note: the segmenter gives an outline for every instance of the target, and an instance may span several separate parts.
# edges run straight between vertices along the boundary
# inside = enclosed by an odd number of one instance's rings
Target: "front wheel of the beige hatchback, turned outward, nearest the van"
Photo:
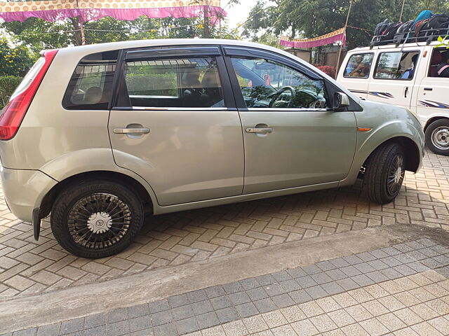
[[[393,201],[401,190],[406,157],[401,145],[384,144],[368,158],[363,187],[368,199],[379,204]]]

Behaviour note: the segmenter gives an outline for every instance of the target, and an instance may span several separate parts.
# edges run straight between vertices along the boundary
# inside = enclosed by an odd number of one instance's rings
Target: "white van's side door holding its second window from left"
[[[410,109],[420,62],[419,48],[379,50],[368,99]]]

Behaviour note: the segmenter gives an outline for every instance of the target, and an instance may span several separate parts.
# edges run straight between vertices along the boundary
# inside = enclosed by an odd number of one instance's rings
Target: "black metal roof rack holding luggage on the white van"
[[[446,25],[447,27],[441,27],[436,29],[422,29],[418,36],[415,36],[415,31],[408,31],[403,33],[394,34],[394,38],[384,39],[386,36],[384,35],[376,35],[373,37],[370,43],[370,49],[373,47],[377,47],[378,45],[388,45],[394,44],[398,47],[401,44],[406,43],[417,43],[417,42],[425,42],[426,44],[430,44],[433,41],[437,41],[439,36],[447,36],[449,35],[449,22]]]

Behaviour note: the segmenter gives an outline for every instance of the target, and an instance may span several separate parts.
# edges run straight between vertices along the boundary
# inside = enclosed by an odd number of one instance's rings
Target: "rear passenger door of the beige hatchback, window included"
[[[217,47],[126,52],[109,118],[114,160],[163,206],[241,195],[243,139]]]

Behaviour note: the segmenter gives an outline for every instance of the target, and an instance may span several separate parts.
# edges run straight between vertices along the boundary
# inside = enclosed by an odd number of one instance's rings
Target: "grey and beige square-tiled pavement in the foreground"
[[[449,248],[409,241],[8,335],[449,335]]]

